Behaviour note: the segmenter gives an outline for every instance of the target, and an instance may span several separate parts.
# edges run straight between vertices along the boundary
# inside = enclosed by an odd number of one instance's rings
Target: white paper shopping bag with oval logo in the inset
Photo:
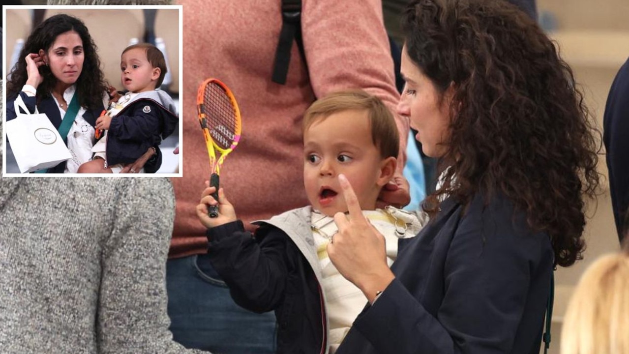
[[[19,172],[48,169],[72,158],[46,114],[38,113],[36,108],[35,114],[20,113],[19,108],[28,112],[20,96],[15,100],[14,107],[17,118],[7,121],[4,128]]]

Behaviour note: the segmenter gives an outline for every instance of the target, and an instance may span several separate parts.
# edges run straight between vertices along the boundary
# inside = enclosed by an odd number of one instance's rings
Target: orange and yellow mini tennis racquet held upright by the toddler
[[[199,86],[197,108],[199,123],[201,123],[205,143],[208,147],[211,172],[209,185],[216,188],[212,197],[218,201],[221,165],[240,140],[240,109],[238,109],[238,104],[230,89],[220,80],[212,78],[205,80]],[[218,159],[216,158],[217,153],[221,154]],[[208,216],[216,218],[218,206],[209,206]]]

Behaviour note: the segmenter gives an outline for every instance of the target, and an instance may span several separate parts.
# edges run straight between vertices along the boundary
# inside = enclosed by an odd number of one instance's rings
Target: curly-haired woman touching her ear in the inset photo
[[[91,160],[94,124],[103,111],[108,91],[87,27],[67,14],[52,16],[28,36],[19,57],[24,60],[18,61],[6,83],[7,120],[16,118],[16,100],[23,101],[30,113],[35,109],[45,113],[64,135],[72,155],[47,172],[77,172],[81,163]],[[26,113],[24,108],[21,111]],[[149,149],[134,166],[144,165],[151,158],[145,168],[155,170],[160,159],[159,155],[151,157],[152,154]]]

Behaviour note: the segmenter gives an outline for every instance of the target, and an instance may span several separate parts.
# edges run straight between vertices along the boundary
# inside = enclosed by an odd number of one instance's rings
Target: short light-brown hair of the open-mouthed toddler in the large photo
[[[398,157],[399,133],[393,114],[376,96],[354,89],[332,92],[306,109],[301,127],[304,133],[316,121],[342,111],[365,111],[371,125],[371,139],[382,158]],[[349,130],[351,126],[347,127]]]

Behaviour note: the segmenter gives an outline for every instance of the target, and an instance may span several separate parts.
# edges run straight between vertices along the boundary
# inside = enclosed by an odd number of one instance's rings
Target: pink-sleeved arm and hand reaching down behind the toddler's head
[[[409,186],[402,172],[409,121],[396,113],[399,94],[381,1],[304,1],[301,28],[316,97],[359,88],[379,97],[391,109],[399,131],[398,166],[394,185],[387,185],[381,199],[397,207],[408,204]]]

